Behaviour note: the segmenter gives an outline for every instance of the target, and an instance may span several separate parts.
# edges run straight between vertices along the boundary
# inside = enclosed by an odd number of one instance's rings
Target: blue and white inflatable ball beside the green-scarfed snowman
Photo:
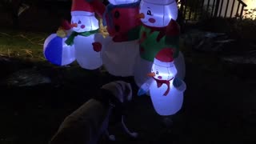
[[[75,61],[74,46],[67,46],[66,38],[50,34],[43,45],[43,54],[50,63],[66,66]]]

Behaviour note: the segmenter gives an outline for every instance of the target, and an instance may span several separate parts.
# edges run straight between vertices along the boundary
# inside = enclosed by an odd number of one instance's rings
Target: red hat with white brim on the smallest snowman
[[[171,67],[174,65],[174,50],[165,48],[158,52],[154,58],[154,64],[163,67]]]

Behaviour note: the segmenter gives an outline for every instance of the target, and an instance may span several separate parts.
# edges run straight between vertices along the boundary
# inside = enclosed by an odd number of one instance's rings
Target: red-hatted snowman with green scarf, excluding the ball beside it
[[[102,35],[98,34],[98,19],[94,7],[86,0],[73,0],[71,25],[73,32],[66,44],[75,48],[75,58],[84,69],[94,70],[102,66]]]

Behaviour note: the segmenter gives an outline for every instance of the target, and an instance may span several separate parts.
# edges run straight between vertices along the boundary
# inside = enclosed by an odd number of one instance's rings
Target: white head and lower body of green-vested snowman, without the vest
[[[142,0],[139,12],[145,15],[141,19],[144,25],[165,27],[171,19],[177,19],[178,6],[175,0]],[[177,77],[184,79],[186,66],[182,52],[179,52],[178,57],[174,59],[174,63],[178,70]],[[138,87],[142,86],[142,83],[148,79],[146,74],[150,73],[152,65],[153,62],[146,61],[141,57],[137,58],[134,66],[134,81]]]

